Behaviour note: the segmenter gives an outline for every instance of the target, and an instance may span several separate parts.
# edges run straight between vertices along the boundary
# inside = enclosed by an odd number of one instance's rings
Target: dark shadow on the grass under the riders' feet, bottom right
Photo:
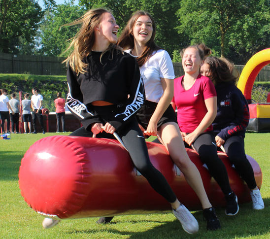
[[[131,220],[128,222],[123,221],[123,230],[118,230],[121,226],[121,221],[112,221],[109,224],[97,225],[88,230],[70,230],[67,232],[69,235],[74,234],[86,234],[91,235],[93,238],[99,238],[98,235],[106,232],[111,234],[113,238],[129,238],[129,239],[235,239],[235,238],[268,238],[270,236],[270,199],[264,199],[265,209],[253,210],[252,204],[242,204],[240,210],[236,216],[226,216],[224,213],[225,208],[216,208],[216,212],[219,215],[222,229],[218,231],[207,231],[206,222],[202,219],[202,211],[194,212],[193,215],[199,222],[200,231],[197,234],[190,235],[184,232],[178,220],[174,221],[162,221],[162,220],[144,220],[143,215],[140,215],[142,219]],[[125,220],[125,219],[123,219]],[[159,223],[161,225],[153,226],[153,228],[147,230],[147,223]],[[126,230],[126,228],[134,228],[129,225],[137,224],[137,228],[144,230],[143,232],[135,232],[133,229]],[[149,224],[148,224],[149,226]],[[89,224],[91,228],[91,224]],[[91,236],[91,237],[92,237]],[[126,236],[126,237],[125,237]]]

